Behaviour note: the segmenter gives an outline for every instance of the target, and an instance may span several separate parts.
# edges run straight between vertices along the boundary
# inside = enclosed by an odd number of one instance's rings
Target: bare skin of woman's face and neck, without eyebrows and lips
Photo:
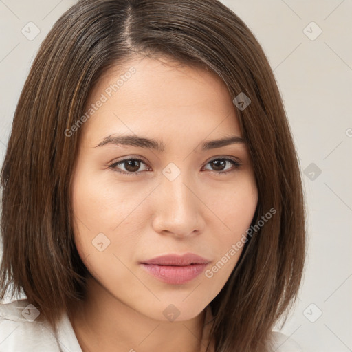
[[[81,127],[72,179],[74,233],[94,280],[69,318],[83,351],[199,352],[207,339],[206,307],[241,250],[211,278],[203,272],[182,285],[159,281],[140,261],[192,252],[208,259],[211,269],[254,216],[258,192],[250,154],[246,144],[201,151],[203,142],[242,136],[234,104],[217,76],[170,58],[133,58],[110,69],[87,106],[132,66],[135,74]],[[104,137],[123,134],[159,140],[165,149],[96,147]],[[234,157],[241,166],[211,163],[219,157]],[[109,168],[133,158],[145,164]],[[169,163],[181,172],[173,181],[162,173]],[[140,174],[118,172],[133,168]],[[102,252],[92,244],[99,233],[110,241]],[[179,312],[174,321],[163,314],[171,304]]]

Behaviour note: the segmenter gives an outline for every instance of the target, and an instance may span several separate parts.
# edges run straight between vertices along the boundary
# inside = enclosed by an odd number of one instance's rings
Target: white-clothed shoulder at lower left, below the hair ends
[[[58,352],[54,331],[27,299],[0,303],[0,352]]]

